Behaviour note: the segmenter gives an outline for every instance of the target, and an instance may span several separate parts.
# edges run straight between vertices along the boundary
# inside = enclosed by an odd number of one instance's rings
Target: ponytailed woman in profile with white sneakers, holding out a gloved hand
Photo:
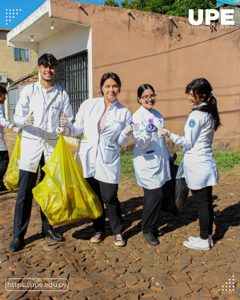
[[[194,79],[186,87],[191,106],[196,106],[187,118],[184,137],[160,128],[161,137],[183,146],[183,159],[177,178],[185,177],[198,209],[200,235],[188,237],[184,246],[191,249],[210,250],[213,246],[212,186],[219,183],[217,165],[212,153],[214,132],[222,125],[217,110],[217,100],[205,78]]]

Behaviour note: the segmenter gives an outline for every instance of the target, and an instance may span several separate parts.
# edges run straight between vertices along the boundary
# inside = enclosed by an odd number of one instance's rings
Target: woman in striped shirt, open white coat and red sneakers
[[[130,141],[133,132],[129,125],[131,113],[117,100],[121,89],[117,74],[105,73],[100,88],[103,97],[85,100],[79,108],[75,123],[66,128],[57,128],[56,132],[69,137],[82,135],[75,159],[103,209],[102,216],[93,220],[96,234],[91,242],[99,243],[106,235],[105,204],[115,245],[124,246],[123,219],[118,200],[121,171],[119,146],[127,145]]]

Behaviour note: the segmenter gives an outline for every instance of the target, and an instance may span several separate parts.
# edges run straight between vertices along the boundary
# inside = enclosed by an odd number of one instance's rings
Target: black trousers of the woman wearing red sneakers
[[[121,213],[120,202],[118,200],[118,184],[117,183],[106,183],[98,181],[94,177],[85,178],[91,185],[93,191],[98,196],[102,205],[103,214],[101,217],[93,220],[93,227],[97,231],[104,232],[105,230],[105,208],[107,208],[108,220],[112,229],[113,234],[123,233],[123,218]]]

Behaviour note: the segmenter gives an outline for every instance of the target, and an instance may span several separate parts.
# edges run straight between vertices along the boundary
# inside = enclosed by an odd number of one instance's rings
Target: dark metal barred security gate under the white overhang
[[[88,99],[88,50],[59,59],[55,83],[69,95],[73,120],[80,105]]]

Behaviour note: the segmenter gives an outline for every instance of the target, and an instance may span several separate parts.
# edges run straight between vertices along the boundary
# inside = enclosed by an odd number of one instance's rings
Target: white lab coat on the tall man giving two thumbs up
[[[60,126],[60,117],[66,113],[71,125],[73,111],[66,91],[54,83],[49,101],[43,97],[40,81],[23,88],[14,114],[14,122],[23,127],[22,146],[19,168],[36,173],[44,151],[45,162],[51,157],[58,142],[56,128]],[[63,91],[63,93],[62,93]],[[33,111],[34,123],[32,126],[24,124],[24,118]]]

